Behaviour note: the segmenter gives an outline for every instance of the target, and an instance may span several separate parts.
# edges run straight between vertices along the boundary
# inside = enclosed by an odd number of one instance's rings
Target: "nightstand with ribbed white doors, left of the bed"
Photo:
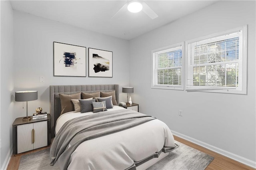
[[[20,154],[51,144],[51,116],[36,120],[15,119],[12,124],[13,154]]]

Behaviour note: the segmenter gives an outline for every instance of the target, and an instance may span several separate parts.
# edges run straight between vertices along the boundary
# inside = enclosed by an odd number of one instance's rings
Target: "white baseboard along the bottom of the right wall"
[[[188,141],[190,141],[190,142],[193,142],[194,144],[198,144],[199,146],[202,146],[202,147],[204,147],[204,148],[206,148],[206,149],[212,150],[213,152],[216,152],[216,153],[218,153],[218,154],[221,154],[221,155],[223,155],[223,156],[226,156],[226,157],[228,157],[228,158],[230,158],[230,159],[236,160],[237,162],[240,162],[240,163],[242,163],[242,164],[248,165],[248,166],[250,166],[250,167],[252,167],[252,168],[256,168],[256,162],[254,162],[254,161],[252,161],[252,160],[249,160],[249,159],[244,158],[244,157],[242,157],[242,156],[233,154],[233,153],[228,152],[228,151],[226,151],[226,150],[217,148],[217,147],[215,147],[215,146],[212,146],[212,145],[210,145],[210,144],[207,144],[207,143],[202,142],[202,141],[200,141],[200,140],[197,140],[197,139],[195,139],[195,138],[191,138],[190,136],[186,136],[186,135],[184,135],[184,134],[181,134],[181,133],[179,133],[179,132],[175,132],[175,131],[173,131],[173,130],[171,130],[171,131],[172,131],[172,134],[175,135],[175,136],[177,136],[177,137],[180,137],[180,138],[183,138],[183,139],[188,140]]]

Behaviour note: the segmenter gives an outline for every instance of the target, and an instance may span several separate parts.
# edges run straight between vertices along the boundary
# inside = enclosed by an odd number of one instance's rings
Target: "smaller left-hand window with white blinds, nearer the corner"
[[[183,46],[184,42],[152,51],[152,88],[184,89]]]

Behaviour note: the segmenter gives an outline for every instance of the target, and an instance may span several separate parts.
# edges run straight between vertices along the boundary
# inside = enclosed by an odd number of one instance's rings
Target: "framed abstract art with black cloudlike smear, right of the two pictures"
[[[89,77],[113,77],[113,52],[88,49]]]

